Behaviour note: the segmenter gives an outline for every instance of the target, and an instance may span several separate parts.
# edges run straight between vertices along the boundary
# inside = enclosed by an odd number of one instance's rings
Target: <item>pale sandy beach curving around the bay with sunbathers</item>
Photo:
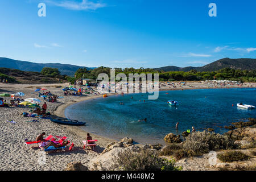
[[[69,84],[44,84],[44,85],[22,85],[22,84],[2,84],[0,83],[0,94],[7,93],[13,94],[16,92],[23,92],[25,96],[22,98],[39,98],[38,93],[34,92],[36,88],[46,88],[51,91],[52,94],[57,96],[63,96],[64,86]],[[248,88],[254,87],[255,84],[245,83],[242,86],[230,86],[230,88]],[[185,86],[178,86],[176,88],[170,85],[161,86],[160,90],[177,90],[177,89],[208,89],[208,88],[222,88],[220,85],[209,85],[203,82],[187,82]],[[228,86],[225,86],[228,88]],[[53,115],[59,117],[65,117],[64,110],[67,106],[90,100],[98,96],[63,96],[59,98],[57,102],[47,102],[47,111]],[[7,103],[10,104],[11,97],[3,97]],[[40,98],[41,106],[43,98]],[[30,108],[27,107],[0,107],[1,118],[1,133],[0,133],[0,170],[63,170],[70,162],[81,162],[84,166],[92,166],[90,161],[95,160],[105,149],[110,142],[114,142],[113,139],[101,137],[92,134],[93,139],[98,140],[98,145],[94,151],[84,150],[82,148],[82,140],[86,139],[86,133],[90,131],[81,130],[76,126],[64,126],[51,122],[49,119],[40,119],[39,122],[27,122],[35,118],[23,117],[23,112],[30,113]],[[7,122],[13,120],[16,123]],[[55,152],[52,154],[46,154],[46,163],[40,165],[38,160],[42,156],[42,152],[39,148],[26,147],[24,139],[28,141],[35,140],[36,136],[42,132],[46,132],[46,136],[49,134],[55,136],[65,136],[68,140],[75,144],[75,148],[72,151]],[[92,168],[89,168],[92,169]]]

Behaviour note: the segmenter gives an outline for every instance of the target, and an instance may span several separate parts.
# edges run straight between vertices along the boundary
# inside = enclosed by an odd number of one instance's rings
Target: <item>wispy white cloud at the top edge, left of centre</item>
[[[101,7],[106,7],[104,3],[92,2],[88,0],[82,0],[82,2],[70,1],[70,0],[63,0],[63,1],[56,2],[53,0],[46,0],[46,2],[53,6],[64,7],[65,9],[69,9],[69,10],[96,10]]]

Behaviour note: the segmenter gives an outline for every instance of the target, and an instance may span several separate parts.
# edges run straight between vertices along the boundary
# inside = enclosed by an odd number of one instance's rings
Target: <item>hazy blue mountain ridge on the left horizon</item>
[[[79,67],[71,64],[60,63],[32,63],[28,61],[18,61],[6,57],[0,57],[1,68],[20,69],[22,71],[41,72],[44,67],[57,68],[61,75],[74,76],[79,68],[94,69],[88,67]]]

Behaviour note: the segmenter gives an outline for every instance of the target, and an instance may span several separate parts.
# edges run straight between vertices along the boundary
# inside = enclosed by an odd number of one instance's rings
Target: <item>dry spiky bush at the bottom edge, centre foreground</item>
[[[152,150],[120,152],[114,158],[116,167],[124,171],[177,171],[181,168],[174,167],[175,160],[159,158],[159,153]]]

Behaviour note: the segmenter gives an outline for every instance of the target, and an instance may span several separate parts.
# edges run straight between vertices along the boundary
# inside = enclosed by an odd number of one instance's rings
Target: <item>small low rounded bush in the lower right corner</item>
[[[220,159],[222,162],[234,162],[248,160],[249,156],[243,154],[243,152],[240,151],[229,151],[225,152],[224,154],[218,154],[217,158]]]

